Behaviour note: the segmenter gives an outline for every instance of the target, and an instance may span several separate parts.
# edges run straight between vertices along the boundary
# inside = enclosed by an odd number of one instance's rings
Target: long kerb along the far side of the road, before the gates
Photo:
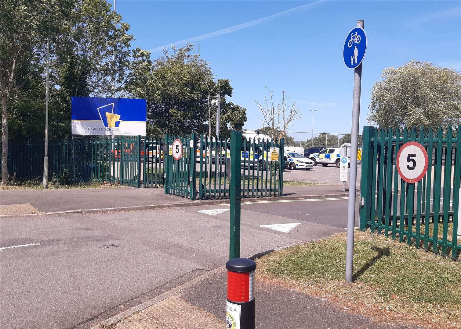
[[[357,193],[356,195],[359,195]],[[242,203],[254,202],[254,201],[277,201],[277,200],[309,200],[309,199],[329,199],[335,197],[348,196],[347,193],[336,193],[336,194],[319,194],[310,196],[274,196],[274,197],[261,197],[261,198],[242,198]],[[17,216],[45,216],[45,215],[57,215],[57,214],[95,214],[95,213],[107,213],[114,211],[133,211],[133,210],[148,210],[148,209],[165,209],[173,207],[193,207],[193,206],[208,206],[213,204],[221,204],[226,202],[227,199],[216,199],[216,200],[197,200],[189,202],[173,202],[164,204],[152,204],[142,206],[130,206],[130,207],[115,207],[115,208],[97,208],[97,209],[76,209],[76,210],[63,210],[53,211],[38,214],[18,214],[18,215],[0,215],[0,217],[17,217]]]

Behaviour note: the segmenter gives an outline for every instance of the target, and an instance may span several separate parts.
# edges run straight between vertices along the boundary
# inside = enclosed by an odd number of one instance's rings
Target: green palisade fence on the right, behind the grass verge
[[[456,260],[461,179],[461,126],[443,130],[363,128],[360,229],[390,236]],[[396,156],[414,141],[426,149],[429,164],[423,179],[405,182]]]

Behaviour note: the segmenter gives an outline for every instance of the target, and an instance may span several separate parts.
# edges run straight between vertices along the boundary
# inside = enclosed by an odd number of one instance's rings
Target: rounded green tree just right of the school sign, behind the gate
[[[213,133],[216,106],[212,96],[232,96],[230,81],[214,81],[210,64],[191,54],[191,49],[190,44],[173,47],[171,53],[165,49],[163,56],[153,62],[148,59],[148,52],[138,53],[144,60],[132,69],[133,79],[127,90],[133,97],[147,99],[149,132]],[[241,129],[246,120],[246,109],[222,98],[221,134],[229,134],[229,127]]]

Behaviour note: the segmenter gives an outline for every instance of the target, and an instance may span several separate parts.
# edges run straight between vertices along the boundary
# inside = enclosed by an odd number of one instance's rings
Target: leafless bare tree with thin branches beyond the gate
[[[296,102],[291,103],[290,100],[293,96],[286,98],[285,91],[282,91],[282,100],[280,103],[277,101],[274,103],[273,90],[269,91],[269,99],[264,98],[264,103],[254,101],[261,111],[263,126],[270,127],[272,130],[272,137],[280,139],[286,135],[288,127],[301,117],[301,109],[296,107]]]

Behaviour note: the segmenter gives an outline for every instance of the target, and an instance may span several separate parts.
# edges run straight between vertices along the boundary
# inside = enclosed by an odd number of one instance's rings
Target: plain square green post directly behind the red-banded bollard
[[[231,133],[231,220],[229,235],[229,259],[240,257],[240,186],[241,186],[242,132]]]

